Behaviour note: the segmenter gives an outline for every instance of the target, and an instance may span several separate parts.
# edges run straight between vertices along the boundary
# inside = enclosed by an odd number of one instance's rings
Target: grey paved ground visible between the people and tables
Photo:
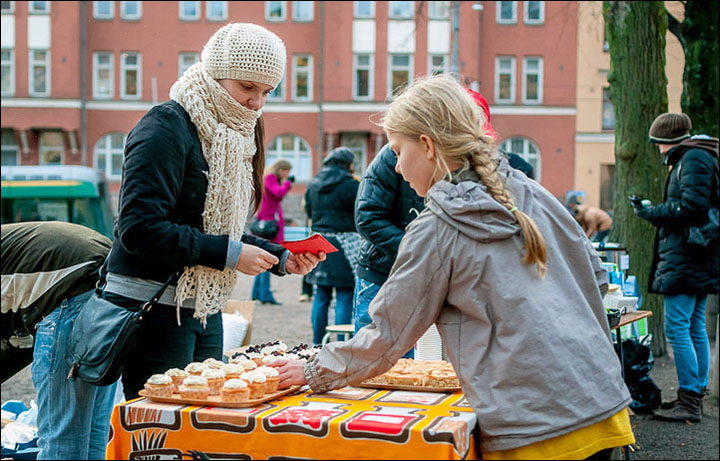
[[[280,338],[292,346],[312,340],[310,303],[298,302],[300,277],[273,277],[272,287],[282,306],[258,305],[253,321],[253,342]],[[250,299],[252,278],[242,276],[236,299]],[[331,314],[332,323],[332,314]],[[677,379],[672,356],[655,359],[652,379],[662,389],[664,399],[674,398]],[[35,398],[29,367],[2,385],[2,400]],[[705,399],[705,417],[698,424],[663,423],[649,416],[631,417],[638,451],[632,459],[718,459],[718,405]]]

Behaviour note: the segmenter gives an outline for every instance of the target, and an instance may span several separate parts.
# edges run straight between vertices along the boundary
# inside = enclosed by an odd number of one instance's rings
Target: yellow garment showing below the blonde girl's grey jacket
[[[483,459],[585,459],[606,448],[635,443],[627,408],[595,424],[542,442],[502,451],[483,451]]]

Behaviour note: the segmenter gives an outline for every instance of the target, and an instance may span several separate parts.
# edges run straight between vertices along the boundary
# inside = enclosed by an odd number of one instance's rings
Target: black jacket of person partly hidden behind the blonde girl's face
[[[365,239],[358,276],[383,284],[395,263],[405,227],[425,209],[425,201],[395,172],[397,158],[388,145],[375,156],[360,181],[355,226]]]

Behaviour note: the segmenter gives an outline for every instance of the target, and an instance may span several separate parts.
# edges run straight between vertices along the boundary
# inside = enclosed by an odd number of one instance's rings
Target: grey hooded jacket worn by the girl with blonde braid
[[[483,451],[572,432],[632,401],[602,305],[607,273],[590,241],[542,186],[506,160],[498,172],[545,238],[545,277],[522,263],[516,219],[477,175],[438,182],[370,304],[373,323],[306,364],[314,391],[387,371],[437,323]]]

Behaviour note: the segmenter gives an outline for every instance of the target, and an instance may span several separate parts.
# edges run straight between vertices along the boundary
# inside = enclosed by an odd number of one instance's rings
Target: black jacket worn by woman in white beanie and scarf
[[[195,125],[180,104],[168,101],[145,114],[125,144],[110,272],[165,282],[186,266],[225,268],[229,236],[203,232],[207,170]],[[278,259],[285,251],[249,234],[242,241]],[[271,271],[277,274],[277,266]]]

